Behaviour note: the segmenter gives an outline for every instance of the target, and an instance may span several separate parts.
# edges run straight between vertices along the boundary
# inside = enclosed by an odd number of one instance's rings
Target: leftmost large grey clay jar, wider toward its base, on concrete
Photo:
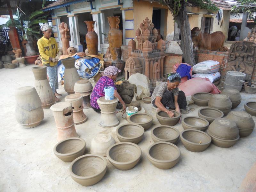
[[[17,122],[25,128],[36,127],[44,119],[44,110],[35,87],[20,87],[15,92]]]

